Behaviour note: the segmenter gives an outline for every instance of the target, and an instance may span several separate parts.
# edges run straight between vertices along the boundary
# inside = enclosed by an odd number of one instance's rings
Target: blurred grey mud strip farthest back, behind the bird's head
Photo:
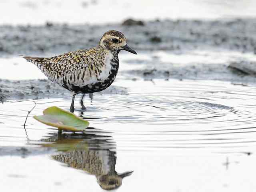
[[[154,20],[107,25],[0,26],[0,56],[60,54],[96,46],[110,29],[125,32],[136,50],[226,49],[256,53],[256,20]]]

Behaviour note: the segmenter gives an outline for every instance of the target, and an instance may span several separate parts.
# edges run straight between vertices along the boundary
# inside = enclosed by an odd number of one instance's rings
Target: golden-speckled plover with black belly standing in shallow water
[[[109,30],[98,46],[43,58],[21,55],[35,64],[48,79],[72,92],[70,112],[74,112],[76,94],[83,94],[80,104],[83,110],[84,94],[100,92],[115,80],[119,68],[118,54],[126,50],[137,54],[126,42],[122,32]]]

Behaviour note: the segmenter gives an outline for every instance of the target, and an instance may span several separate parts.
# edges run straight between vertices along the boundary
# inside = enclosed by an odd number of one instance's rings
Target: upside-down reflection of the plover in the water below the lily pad
[[[133,172],[116,172],[116,143],[111,136],[64,133],[56,134],[44,141],[52,142],[44,146],[56,148],[60,152],[52,155],[52,159],[95,175],[98,184],[105,190],[120,187],[122,179]]]

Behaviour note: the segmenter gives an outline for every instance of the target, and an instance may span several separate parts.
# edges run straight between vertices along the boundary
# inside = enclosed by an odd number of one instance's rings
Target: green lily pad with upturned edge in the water
[[[88,121],[56,106],[45,109],[43,114],[34,118],[60,130],[82,131],[89,126]]]

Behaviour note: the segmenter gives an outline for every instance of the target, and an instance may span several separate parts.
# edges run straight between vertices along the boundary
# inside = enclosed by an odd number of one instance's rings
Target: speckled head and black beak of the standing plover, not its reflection
[[[104,33],[102,38],[100,39],[100,46],[112,52],[119,53],[120,50],[126,50],[133,54],[137,54],[132,48],[127,45],[124,34],[116,30],[110,30]]]

